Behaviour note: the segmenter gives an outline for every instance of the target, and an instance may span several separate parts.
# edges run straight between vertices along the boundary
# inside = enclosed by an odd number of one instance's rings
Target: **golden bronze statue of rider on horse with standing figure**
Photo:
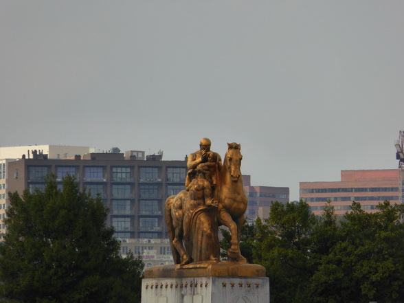
[[[186,190],[166,200],[166,222],[175,264],[219,260],[218,226],[232,235],[229,260],[245,262],[240,254],[240,228],[247,209],[240,166],[240,144],[227,144],[224,164],[201,139],[200,150],[188,157]]]

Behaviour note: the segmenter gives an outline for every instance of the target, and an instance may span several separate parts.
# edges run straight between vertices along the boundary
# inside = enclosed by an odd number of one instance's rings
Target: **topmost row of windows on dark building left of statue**
[[[49,174],[48,166],[30,166],[30,181],[43,181]],[[1,172],[1,171],[0,171]],[[78,166],[57,166],[56,177],[72,176],[78,177]],[[167,168],[167,181],[184,182],[186,179],[186,168]],[[104,167],[87,166],[84,167],[84,178],[86,181],[106,181],[106,172]],[[113,167],[111,178],[113,181],[130,182],[133,181],[132,167]],[[161,181],[159,168],[141,167],[139,168],[140,181]]]

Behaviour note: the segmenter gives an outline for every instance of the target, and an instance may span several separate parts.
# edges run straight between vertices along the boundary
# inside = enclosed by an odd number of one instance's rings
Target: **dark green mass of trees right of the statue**
[[[339,220],[330,202],[322,216],[303,201],[275,202],[249,225],[244,242],[267,269],[272,303],[404,302],[404,205],[351,208]]]

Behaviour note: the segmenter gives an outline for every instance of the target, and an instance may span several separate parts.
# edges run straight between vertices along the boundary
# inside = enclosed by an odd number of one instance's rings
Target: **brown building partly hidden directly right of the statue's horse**
[[[248,197],[248,206],[245,216],[248,221],[256,218],[268,218],[271,202],[289,202],[289,188],[273,186],[251,186],[251,176],[243,175],[244,190]]]

